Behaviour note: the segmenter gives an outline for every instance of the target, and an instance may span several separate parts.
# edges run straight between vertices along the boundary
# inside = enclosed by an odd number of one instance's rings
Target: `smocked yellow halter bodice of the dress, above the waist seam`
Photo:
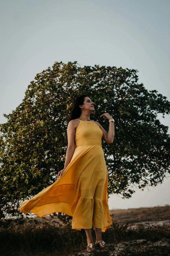
[[[75,119],[79,120],[79,119]],[[93,121],[82,121],[76,128],[75,145],[78,146],[102,146],[103,131]]]

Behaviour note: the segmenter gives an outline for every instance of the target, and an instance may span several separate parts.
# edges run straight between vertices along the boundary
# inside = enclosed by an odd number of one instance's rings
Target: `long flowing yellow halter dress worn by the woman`
[[[78,120],[78,119],[76,119]],[[105,232],[112,220],[108,208],[108,174],[102,148],[103,132],[93,121],[81,121],[75,133],[75,151],[61,177],[19,207],[38,217],[51,213],[73,216],[72,229]]]

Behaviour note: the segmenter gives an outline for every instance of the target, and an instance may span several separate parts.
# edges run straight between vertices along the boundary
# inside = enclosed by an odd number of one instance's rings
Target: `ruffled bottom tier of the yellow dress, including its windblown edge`
[[[49,212],[49,208],[51,212]],[[39,210],[39,207],[35,206],[30,212],[34,213],[39,218],[56,212],[65,213],[66,215],[73,217],[72,229],[75,230],[91,229],[92,226],[94,226],[102,229],[102,232],[105,232],[106,229],[111,228],[110,225],[112,224],[112,220],[108,210],[108,200],[80,197],[74,214],[72,212],[68,212],[68,209],[68,203],[58,202],[43,205],[43,210],[42,208]],[[22,213],[27,213],[23,211],[22,207],[19,207],[19,210]]]

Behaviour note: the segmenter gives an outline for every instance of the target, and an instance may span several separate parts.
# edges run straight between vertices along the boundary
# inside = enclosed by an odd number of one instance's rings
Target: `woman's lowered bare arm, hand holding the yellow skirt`
[[[61,177],[65,168],[67,167],[67,165],[70,163],[74,151],[75,151],[75,133],[76,133],[76,122],[74,120],[71,120],[68,123],[67,126],[67,140],[68,140],[68,146],[67,146],[67,151],[66,151],[66,156],[65,156],[65,164],[64,164],[64,169],[61,170],[58,175],[57,175],[57,179],[58,177]]]

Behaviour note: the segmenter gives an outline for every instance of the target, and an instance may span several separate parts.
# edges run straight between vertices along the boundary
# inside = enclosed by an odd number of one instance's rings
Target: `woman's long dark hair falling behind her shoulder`
[[[69,123],[71,120],[80,117],[82,110],[81,110],[81,108],[79,107],[79,105],[83,105],[83,104],[84,104],[84,98],[85,98],[85,97],[88,97],[88,96],[87,96],[87,95],[81,95],[81,96],[78,96],[78,97],[74,100],[74,102],[73,102],[73,104],[72,104],[72,106],[71,106],[72,111],[71,111],[71,113],[70,113],[70,118],[69,118],[68,121],[67,121],[67,125],[68,125],[68,123]]]

